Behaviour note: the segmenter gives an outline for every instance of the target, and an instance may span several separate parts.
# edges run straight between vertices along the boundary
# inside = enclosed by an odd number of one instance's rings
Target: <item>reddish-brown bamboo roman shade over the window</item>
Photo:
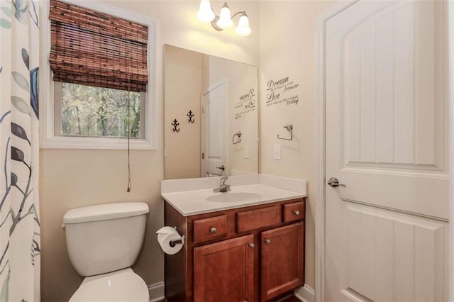
[[[146,91],[148,27],[50,0],[55,82]]]

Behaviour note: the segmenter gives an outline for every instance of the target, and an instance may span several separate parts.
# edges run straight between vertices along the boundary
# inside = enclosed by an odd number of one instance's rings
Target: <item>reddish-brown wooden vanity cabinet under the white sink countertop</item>
[[[272,301],[304,284],[305,198],[182,216],[185,244],[165,255],[167,301]]]

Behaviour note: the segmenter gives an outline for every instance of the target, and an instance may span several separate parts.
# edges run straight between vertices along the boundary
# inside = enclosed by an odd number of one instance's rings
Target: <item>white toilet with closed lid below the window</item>
[[[85,279],[76,301],[150,302],[148,286],[131,269],[142,247],[146,203],[106,203],[65,213],[70,262]]]

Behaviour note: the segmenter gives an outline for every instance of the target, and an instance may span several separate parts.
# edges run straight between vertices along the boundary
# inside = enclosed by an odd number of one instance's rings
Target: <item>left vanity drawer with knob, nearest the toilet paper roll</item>
[[[226,215],[194,220],[194,243],[216,239],[226,234]]]

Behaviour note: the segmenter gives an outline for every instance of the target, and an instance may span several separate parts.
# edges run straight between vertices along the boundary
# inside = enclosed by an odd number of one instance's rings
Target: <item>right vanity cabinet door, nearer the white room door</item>
[[[262,232],[262,301],[304,283],[304,224]]]

